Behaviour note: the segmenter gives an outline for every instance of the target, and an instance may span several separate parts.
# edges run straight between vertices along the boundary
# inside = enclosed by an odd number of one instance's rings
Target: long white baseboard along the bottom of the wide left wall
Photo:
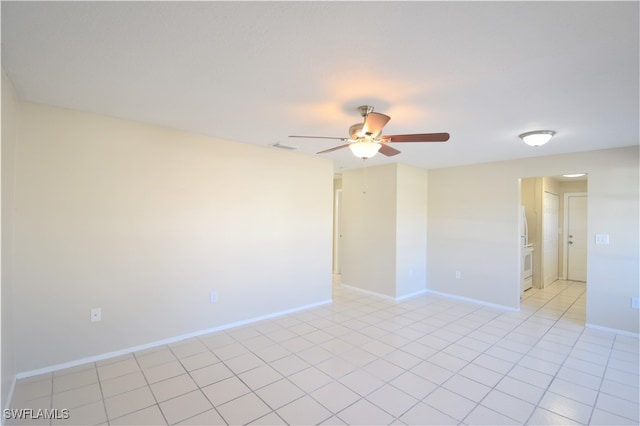
[[[154,347],[157,347],[157,346],[167,345],[169,343],[175,343],[175,342],[179,342],[181,340],[186,340],[186,339],[202,336],[202,335],[209,334],[209,333],[215,333],[217,331],[227,330],[227,329],[238,327],[238,326],[241,326],[241,325],[251,324],[251,323],[258,322],[258,321],[263,321],[263,320],[266,320],[266,319],[276,318],[276,317],[279,317],[279,316],[282,316],[282,315],[292,314],[294,312],[299,312],[299,311],[304,311],[304,310],[307,310],[307,309],[316,308],[318,306],[327,305],[327,304],[332,303],[332,302],[333,302],[333,300],[329,299],[329,300],[325,300],[325,301],[322,301],[322,302],[317,302],[317,303],[312,303],[312,304],[309,304],[309,305],[298,306],[296,308],[286,309],[284,311],[279,311],[279,312],[275,312],[275,313],[272,313],[272,314],[262,315],[262,316],[259,316],[259,317],[254,317],[254,318],[249,318],[249,319],[242,320],[242,321],[237,321],[237,322],[233,322],[233,323],[229,323],[229,324],[224,324],[224,325],[221,325],[221,326],[218,326],[218,327],[208,328],[206,330],[194,331],[193,333],[187,333],[187,334],[183,334],[183,335],[180,335],[180,336],[170,337],[168,339],[158,340],[158,341],[155,341],[155,342],[146,343],[144,345],[133,346],[133,347],[121,349],[121,350],[118,350],[118,351],[107,352],[107,353],[100,354],[100,355],[81,358],[81,359],[78,359],[78,360],[75,360],[75,361],[64,362],[62,364],[55,364],[55,365],[51,365],[49,367],[38,368],[36,370],[23,371],[21,373],[16,374],[16,377],[13,380],[14,381],[13,385],[15,385],[15,381],[17,379],[24,379],[24,378],[27,378],[27,377],[38,376],[40,374],[51,373],[53,371],[64,370],[65,368],[76,367],[78,365],[86,364],[86,363],[89,363],[89,362],[103,361],[105,359],[114,358],[114,357],[121,356],[121,355],[126,355],[126,354],[131,353],[131,352],[138,352],[138,351],[142,351],[142,350],[145,350],[145,349],[150,349],[150,348],[154,348]],[[12,395],[12,393],[13,393],[13,385],[12,385],[12,390],[10,392],[10,396],[13,396]],[[10,402],[11,402],[11,399],[7,399],[7,404],[10,404]]]

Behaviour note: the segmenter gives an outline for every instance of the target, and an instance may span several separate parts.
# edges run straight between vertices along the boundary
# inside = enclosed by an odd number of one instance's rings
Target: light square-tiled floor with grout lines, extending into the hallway
[[[584,327],[585,285],[520,312],[335,288],[333,304],[20,380],[7,424],[634,424],[638,339]]]

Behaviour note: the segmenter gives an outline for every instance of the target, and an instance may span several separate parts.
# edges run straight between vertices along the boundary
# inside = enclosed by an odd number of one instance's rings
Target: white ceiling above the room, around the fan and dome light
[[[22,100],[308,155],[341,142],[287,136],[347,136],[371,104],[384,134],[451,139],[370,165],[447,167],[637,145],[638,6],[2,1],[2,67]]]

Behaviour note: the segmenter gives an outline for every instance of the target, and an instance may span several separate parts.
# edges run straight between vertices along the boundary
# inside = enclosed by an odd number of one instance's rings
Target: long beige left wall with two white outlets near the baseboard
[[[19,118],[18,371],[331,299],[330,161],[29,103]]]

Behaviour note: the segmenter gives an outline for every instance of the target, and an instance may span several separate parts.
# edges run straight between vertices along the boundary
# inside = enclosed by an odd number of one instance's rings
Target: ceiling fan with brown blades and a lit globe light
[[[289,136],[290,138],[312,138],[312,139],[337,139],[347,142],[344,145],[325,149],[318,152],[324,154],[327,152],[337,151],[338,149],[349,147],[353,154],[358,157],[367,159],[380,152],[387,157],[400,154],[400,151],[389,146],[389,143],[398,142],[446,142],[449,140],[449,133],[417,133],[411,135],[381,135],[382,129],[391,119],[388,115],[373,112],[370,105],[362,105],[358,107],[358,112],[364,118],[362,123],[356,123],[349,128],[349,137],[331,137],[331,136]]]

